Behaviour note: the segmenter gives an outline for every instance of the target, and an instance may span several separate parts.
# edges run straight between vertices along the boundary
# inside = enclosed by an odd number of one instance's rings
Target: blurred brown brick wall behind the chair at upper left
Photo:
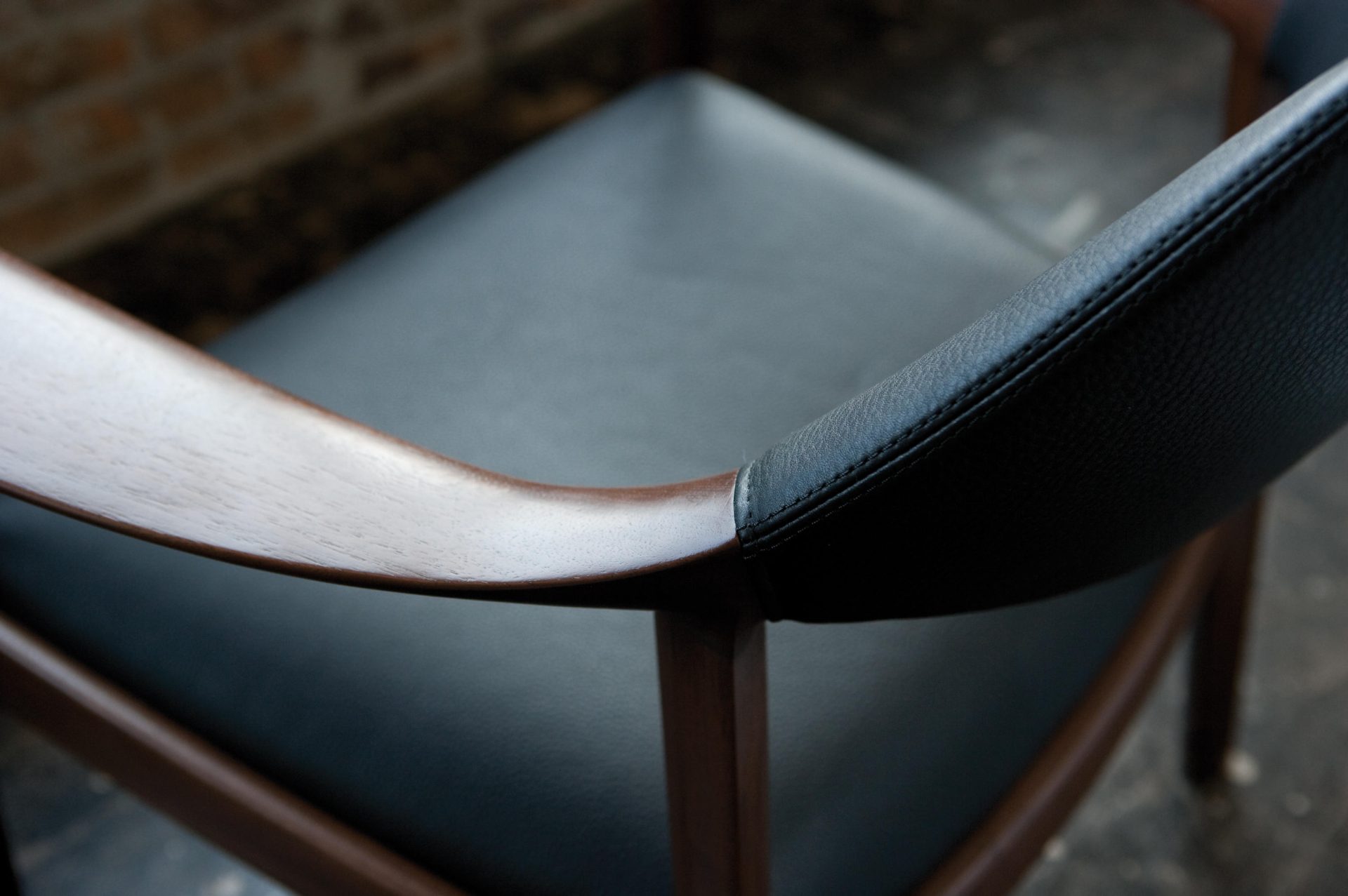
[[[0,248],[50,264],[632,0],[0,0]]]

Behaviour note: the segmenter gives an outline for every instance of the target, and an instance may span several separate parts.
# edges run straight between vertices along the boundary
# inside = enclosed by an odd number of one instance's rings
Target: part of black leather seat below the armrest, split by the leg
[[[28,516],[0,523],[4,612],[336,818],[476,896],[669,892],[650,613],[363,591]],[[1023,772],[1150,581],[768,627],[774,892],[918,880]]]

